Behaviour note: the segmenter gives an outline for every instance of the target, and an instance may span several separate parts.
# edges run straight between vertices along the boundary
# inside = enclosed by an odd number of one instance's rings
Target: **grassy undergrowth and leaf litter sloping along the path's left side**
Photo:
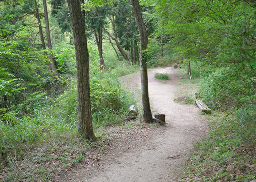
[[[90,63],[91,106],[94,128],[122,125],[129,106],[136,101],[120,86],[116,73],[99,71]],[[6,112],[0,121],[0,181],[43,181],[55,171],[68,168],[88,157],[90,144],[78,137],[76,79],[51,104],[16,117]],[[2,115],[3,116],[3,115]],[[2,117],[3,118],[3,117]],[[104,149],[104,133],[92,145]]]

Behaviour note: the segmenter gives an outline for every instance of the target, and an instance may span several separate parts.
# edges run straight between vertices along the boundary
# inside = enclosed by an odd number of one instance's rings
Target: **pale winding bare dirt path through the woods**
[[[170,80],[155,79],[156,72],[167,72]],[[148,72],[148,78],[151,106],[155,112],[166,114],[165,131],[156,133],[137,149],[120,154],[115,161],[106,163],[98,174],[94,173],[90,178],[80,176],[77,181],[177,181],[177,168],[187,157],[192,144],[205,136],[207,124],[196,106],[181,105],[173,101],[177,96],[181,96],[177,70],[170,67],[153,69]],[[123,79],[131,89],[140,88],[139,73]]]

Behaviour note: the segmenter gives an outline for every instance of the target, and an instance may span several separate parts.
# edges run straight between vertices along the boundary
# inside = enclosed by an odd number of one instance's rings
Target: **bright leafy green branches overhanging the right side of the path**
[[[191,61],[192,75],[205,77],[201,89],[204,101],[221,108],[254,105],[255,3],[154,2],[161,16],[156,37],[173,36],[168,49],[184,62]]]

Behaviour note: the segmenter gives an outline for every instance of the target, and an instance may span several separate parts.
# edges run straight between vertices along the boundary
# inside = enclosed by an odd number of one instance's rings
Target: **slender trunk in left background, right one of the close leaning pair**
[[[53,51],[52,51],[52,42],[51,42],[51,36],[50,36],[50,28],[49,28],[49,20],[48,20],[48,11],[47,11],[47,3],[46,0],[43,0],[43,6],[44,6],[44,20],[45,20],[45,29],[46,29],[46,38],[47,38],[47,44],[49,49],[49,59],[50,59],[50,70],[53,72],[54,76],[59,76],[56,66],[54,64],[53,60]]]

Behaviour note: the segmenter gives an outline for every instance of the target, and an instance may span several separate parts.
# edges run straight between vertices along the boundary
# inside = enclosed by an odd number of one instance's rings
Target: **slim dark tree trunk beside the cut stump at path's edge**
[[[134,15],[137,21],[138,29],[140,32],[140,77],[141,77],[141,94],[142,94],[142,105],[143,105],[143,116],[146,123],[151,123],[152,113],[150,109],[150,102],[148,97],[148,78],[147,78],[147,58],[145,50],[147,49],[147,29],[143,22],[141,8],[138,0],[131,0]]]

